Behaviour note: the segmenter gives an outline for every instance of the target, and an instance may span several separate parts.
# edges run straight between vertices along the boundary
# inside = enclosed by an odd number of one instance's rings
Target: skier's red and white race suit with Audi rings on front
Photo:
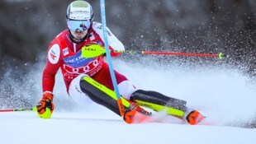
[[[78,76],[88,75],[92,77],[95,81],[98,81],[104,86],[107,86],[113,90],[110,72],[108,70],[108,65],[104,62],[102,56],[95,58],[83,58],[82,57],[82,47],[90,44],[97,43],[104,46],[102,33],[102,24],[98,22],[92,23],[92,30],[87,39],[82,43],[75,44],[69,38],[69,30],[62,31],[59,35],[55,37],[50,43],[47,55],[47,62],[45,70],[42,77],[43,91],[52,92],[55,86],[55,75],[59,68],[64,77],[65,86],[69,95],[73,97],[78,96],[78,92],[73,92],[75,88],[77,89],[78,81],[75,84],[70,85],[70,83]],[[107,39],[109,47],[111,50],[124,50],[124,45],[115,35],[107,29]],[[119,53],[111,53],[111,56],[118,56]],[[77,79],[80,79],[78,77]],[[130,99],[130,94],[135,91],[134,86],[127,81],[127,78],[120,73],[116,72],[116,81],[118,87],[121,90],[121,95],[123,95],[128,100]],[[70,85],[70,86],[69,86]],[[79,87],[79,86],[78,86]],[[70,89],[70,90],[69,90]],[[80,89],[80,88],[79,88]],[[70,92],[71,91],[71,92]]]

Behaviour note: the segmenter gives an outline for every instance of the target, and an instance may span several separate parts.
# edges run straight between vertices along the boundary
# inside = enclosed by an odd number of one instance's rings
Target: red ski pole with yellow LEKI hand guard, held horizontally
[[[178,53],[178,52],[158,52],[158,51],[136,51],[136,50],[111,50],[111,53],[140,53],[140,54],[156,54],[156,55],[177,55],[177,56],[191,56],[191,57],[216,57],[222,59],[225,57],[223,53]],[[93,58],[106,53],[106,49],[103,49],[97,44],[83,47],[82,55],[84,58]]]

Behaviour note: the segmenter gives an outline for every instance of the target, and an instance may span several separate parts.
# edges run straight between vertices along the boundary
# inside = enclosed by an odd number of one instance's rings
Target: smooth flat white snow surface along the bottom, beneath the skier
[[[175,123],[126,124],[120,119],[56,113],[1,114],[1,143],[233,143],[254,144],[256,129],[189,126]]]

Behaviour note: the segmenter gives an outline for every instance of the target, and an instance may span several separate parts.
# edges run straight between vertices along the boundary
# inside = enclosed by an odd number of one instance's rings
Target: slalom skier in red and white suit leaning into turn
[[[36,105],[40,118],[51,118],[55,109],[53,90],[56,72],[61,69],[64,83],[71,99],[81,105],[92,101],[123,116],[126,123],[150,122],[151,113],[166,110],[166,114],[181,118],[187,123],[197,124],[204,117],[197,110],[187,109],[185,100],[178,100],[156,91],[137,90],[121,73],[115,71],[125,113],[121,114],[116,102],[111,74],[104,55],[84,58],[82,48],[104,48],[102,24],[93,21],[92,6],[85,1],[69,4],[66,13],[68,28],[50,42],[47,62],[42,76],[43,95]],[[124,50],[124,45],[107,28],[107,39],[111,50]],[[116,57],[120,53],[111,53]]]

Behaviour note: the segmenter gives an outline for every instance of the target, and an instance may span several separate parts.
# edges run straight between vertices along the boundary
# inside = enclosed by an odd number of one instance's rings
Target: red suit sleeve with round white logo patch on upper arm
[[[43,92],[53,92],[55,86],[55,75],[61,63],[59,44],[51,43],[48,49],[46,65],[42,77]]]

